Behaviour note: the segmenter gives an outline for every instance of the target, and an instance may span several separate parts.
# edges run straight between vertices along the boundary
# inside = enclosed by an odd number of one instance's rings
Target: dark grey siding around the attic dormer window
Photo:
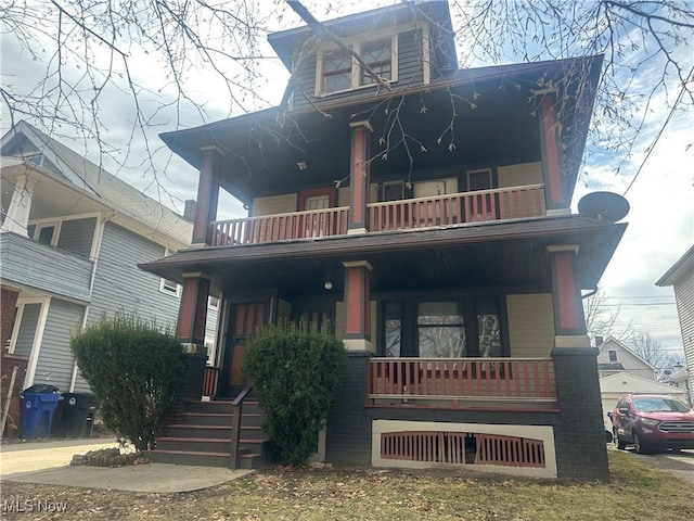
[[[385,36],[385,35],[384,35]],[[368,41],[368,40],[364,40]],[[424,82],[424,68],[422,60],[422,30],[411,29],[398,34],[398,80],[391,84],[393,90],[397,91],[410,88]],[[312,102],[321,104],[333,104],[346,100],[360,98],[373,98],[376,87],[367,87],[345,92],[316,97],[316,58],[306,61],[304,69],[299,73],[299,88],[294,91],[293,107],[306,107],[309,105],[301,89],[311,96]]]

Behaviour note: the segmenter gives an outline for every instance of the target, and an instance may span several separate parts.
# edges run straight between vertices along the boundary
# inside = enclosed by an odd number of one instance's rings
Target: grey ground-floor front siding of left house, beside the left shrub
[[[75,358],[69,351],[70,334],[81,326],[85,307],[52,298],[46,319],[41,350],[36,363],[34,383],[48,382],[61,391],[69,390]]]

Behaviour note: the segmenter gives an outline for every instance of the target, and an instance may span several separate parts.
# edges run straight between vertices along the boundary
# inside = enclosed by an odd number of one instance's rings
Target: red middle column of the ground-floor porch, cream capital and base
[[[374,353],[371,342],[370,275],[367,260],[343,263],[345,267],[345,344],[347,351]]]

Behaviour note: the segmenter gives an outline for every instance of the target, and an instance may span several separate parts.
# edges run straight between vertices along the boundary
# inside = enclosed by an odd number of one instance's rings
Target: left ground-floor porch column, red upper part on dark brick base
[[[182,394],[187,398],[200,399],[203,394],[207,350],[205,347],[205,322],[209,279],[204,274],[183,274],[183,294],[176,326],[176,338],[185,347],[188,379]]]

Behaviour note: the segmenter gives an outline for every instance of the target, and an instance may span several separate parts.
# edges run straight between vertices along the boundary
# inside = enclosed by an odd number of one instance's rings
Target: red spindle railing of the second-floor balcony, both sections
[[[544,185],[460,192],[368,205],[370,232],[470,226],[547,215]],[[349,207],[272,214],[211,223],[213,246],[347,234]]]

